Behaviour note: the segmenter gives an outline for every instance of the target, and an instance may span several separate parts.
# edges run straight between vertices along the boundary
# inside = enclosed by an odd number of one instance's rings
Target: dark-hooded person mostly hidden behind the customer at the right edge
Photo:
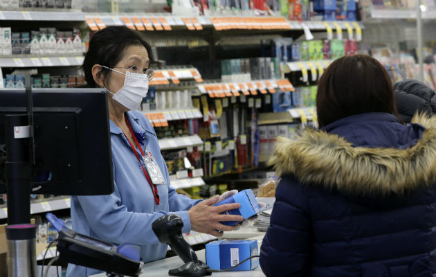
[[[417,80],[406,80],[394,84],[395,102],[400,118],[410,123],[416,111],[436,114],[436,93]]]

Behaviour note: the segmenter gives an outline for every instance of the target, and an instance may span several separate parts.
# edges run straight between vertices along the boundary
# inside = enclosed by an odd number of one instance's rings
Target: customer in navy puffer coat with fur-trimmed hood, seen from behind
[[[282,177],[260,251],[266,276],[436,273],[436,118],[399,122],[390,78],[365,55],[318,82],[321,130],[280,139]]]

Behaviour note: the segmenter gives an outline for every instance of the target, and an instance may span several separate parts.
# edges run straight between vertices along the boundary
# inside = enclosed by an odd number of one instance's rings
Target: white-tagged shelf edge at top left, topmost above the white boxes
[[[39,11],[13,11],[1,10],[0,20],[16,20],[16,21],[85,21],[83,12],[80,11],[53,11],[53,12],[39,12]]]

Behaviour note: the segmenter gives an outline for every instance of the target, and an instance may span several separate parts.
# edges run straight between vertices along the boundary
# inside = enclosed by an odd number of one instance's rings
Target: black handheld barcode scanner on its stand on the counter
[[[185,241],[181,233],[183,222],[178,215],[164,215],[152,224],[152,229],[159,242],[168,244],[172,251],[179,256],[185,265],[170,269],[170,276],[209,276],[212,274],[209,267],[197,258],[194,250]]]

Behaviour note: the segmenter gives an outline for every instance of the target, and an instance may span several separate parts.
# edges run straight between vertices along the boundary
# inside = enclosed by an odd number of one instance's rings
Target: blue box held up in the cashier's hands
[[[242,215],[244,217],[244,220],[246,220],[248,217],[252,217],[256,213],[259,213],[260,207],[259,204],[257,204],[257,200],[255,195],[253,194],[253,191],[251,189],[248,190],[242,190],[239,193],[228,197],[224,199],[223,201],[214,204],[213,206],[221,206],[224,204],[232,204],[232,203],[239,203],[241,204],[241,207],[237,210],[231,210],[226,211],[222,214],[224,215]],[[237,221],[226,221],[221,222],[224,225],[235,225],[238,222]]]

